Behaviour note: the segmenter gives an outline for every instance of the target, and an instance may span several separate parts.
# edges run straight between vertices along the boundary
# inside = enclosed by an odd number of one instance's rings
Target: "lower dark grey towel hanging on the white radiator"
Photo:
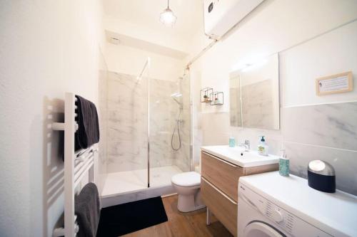
[[[75,197],[74,205],[79,225],[77,236],[95,237],[101,215],[96,184],[86,184],[79,195]]]

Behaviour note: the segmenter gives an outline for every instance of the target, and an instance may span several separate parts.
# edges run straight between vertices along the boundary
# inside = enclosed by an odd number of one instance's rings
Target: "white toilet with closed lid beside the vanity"
[[[175,174],[171,184],[178,194],[178,211],[188,212],[205,207],[201,200],[201,175],[197,172]]]

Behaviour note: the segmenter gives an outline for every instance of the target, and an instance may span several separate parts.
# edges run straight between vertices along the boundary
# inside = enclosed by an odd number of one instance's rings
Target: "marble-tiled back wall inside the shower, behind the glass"
[[[108,172],[147,167],[147,82],[147,78],[137,83],[134,75],[109,73]],[[150,167],[177,165],[186,170],[189,165],[186,158],[187,154],[189,157],[189,97],[187,99],[185,93],[178,99],[183,101],[182,147],[177,152],[171,149],[171,135],[179,110],[170,95],[176,91],[178,85],[174,81],[150,79]],[[176,136],[174,144],[178,145]]]

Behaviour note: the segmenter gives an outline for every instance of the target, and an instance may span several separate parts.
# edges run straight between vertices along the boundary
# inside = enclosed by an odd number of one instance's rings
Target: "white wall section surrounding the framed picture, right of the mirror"
[[[356,41],[357,21],[281,52],[280,75],[281,78],[288,79],[281,80],[281,106],[357,100],[357,90],[327,96],[316,96],[315,90],[315,79],[326,75],[352,71],[353,78],[357,78]]]

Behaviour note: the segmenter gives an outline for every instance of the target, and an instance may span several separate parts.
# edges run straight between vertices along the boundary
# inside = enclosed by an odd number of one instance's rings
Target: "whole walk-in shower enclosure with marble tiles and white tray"
[[[101,78],[102,197],[171,188],[174,174],[190,171],[189,80],[151,78],[150,60],[137,75]]]

